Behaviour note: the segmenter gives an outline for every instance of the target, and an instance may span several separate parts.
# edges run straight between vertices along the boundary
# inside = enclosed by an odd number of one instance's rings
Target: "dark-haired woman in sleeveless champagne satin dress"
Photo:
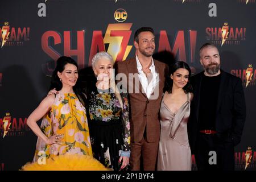
[[[160,171],[191,170],[191,150],[187,122],[193,94],[189,84],[191,69],[177,61],[171,65],[160,107],[161,134],[157,169]]]

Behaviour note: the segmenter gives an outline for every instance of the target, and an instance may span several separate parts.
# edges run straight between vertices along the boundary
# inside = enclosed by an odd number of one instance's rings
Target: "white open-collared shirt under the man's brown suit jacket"
[[[159,82],[158,73],[156,73],[156,71],[155,71],[154,60],[152,59],[152,64],[149,68],[151,73],[147,74],[148,78],[151,77],[151,75],[152,75],[151,81],[148,80],[146,74],[142,71],[142,65],[141,65],[141,62],[139,62],[137,55],[136,55],[136,61],[137,61],[137,69],[138,69],[138,73],[139,73],[139,81],[141,82],[142,89],[143,89],[142,93],[146,93],[147,98],[150,98],[153,90],[155,89],[155,86]]]

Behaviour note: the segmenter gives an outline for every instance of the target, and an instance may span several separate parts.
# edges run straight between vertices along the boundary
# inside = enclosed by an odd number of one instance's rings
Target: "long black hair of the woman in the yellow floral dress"
[[[78,65],[76,63],[75,60],[73,60],[71,57],[67,57],[67,56],[61,56],[59,57],[59,59],[57,59],[57,65],[55,70],[52,73],[52,78],[51,78],[51,85],[50,85],[50,90],[52,89],[56,89],[57,91],[61,90],[61,88],[63,87],[62,82],[60,81],[59,76],[57,75],[57,72],[63,72],[65,69],[65,65],[66,64],[73,64],[76,66],[76,68],[78,69]],[[76,85],[73,86],[73,91],[75,92],[77,98],[79,98],[79,101],[82,103],[82,105],[85,106],[85,100],[86,100],[86,96],[84,96],[84,94],[81,92],[81,88],[80,88],[80,79],[77,79]]]

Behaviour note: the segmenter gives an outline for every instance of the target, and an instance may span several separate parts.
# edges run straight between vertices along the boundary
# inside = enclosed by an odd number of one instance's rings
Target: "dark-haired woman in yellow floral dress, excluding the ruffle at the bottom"
[[[92,156],[84,102],[76,88],[77,68],[71,57],[57,60],[51,89],[56,88],[58,93],[44,98],[27,119],[27,125],[38,136],[33,162],[61,154]],[[39,127],[36,122],[42,117]]]

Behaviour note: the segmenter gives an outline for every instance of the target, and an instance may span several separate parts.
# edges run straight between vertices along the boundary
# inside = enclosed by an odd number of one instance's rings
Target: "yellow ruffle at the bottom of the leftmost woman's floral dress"
[[[46,159],[46,164],[27,163],[22,171],[109,171],[89,155],[59,155]]]

